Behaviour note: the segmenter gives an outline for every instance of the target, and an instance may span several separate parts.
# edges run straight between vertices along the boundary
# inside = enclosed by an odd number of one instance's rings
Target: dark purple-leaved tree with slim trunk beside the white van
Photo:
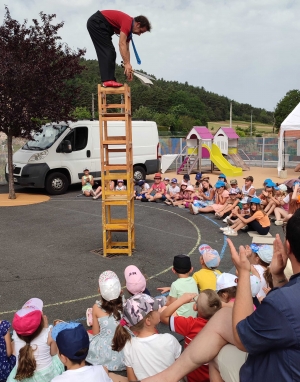
[[[63,23],[52,24],[55,15],[40,13],[20,24],[5,7],[0,26],[0,131],[7,135],[9,197],[15,198],[12,167],[12,137],[31,138],[41,120],[72,119],[79,86],[72,79],[84,66],[85,51],[71,50],[58,31]],[[84,105],[83,105],[84,106]]]

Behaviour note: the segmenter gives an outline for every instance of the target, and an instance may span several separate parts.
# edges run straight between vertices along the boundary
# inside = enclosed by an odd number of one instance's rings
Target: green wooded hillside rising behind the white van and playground
[[[92,93],[95,95],[97,111],[97,85],[100,81],[97,60],[82,59],[81,64],[86,70],[78,74],[75,80],[81,89],[74,114],[78,119],[91,117]],[[116,77],[119,82],[125,80],[123,69],[119,65],[116,68]],[[170,127],[174,132],[187,131],[194,125],[207,125],[208,121],[229,119],[231,100],[228,97],[187,82],[165,81],[162,78],[154,82],[155,86],[146,87],[135,78],[130,84],[133,118],[154,120],[160,127]],[[250,122],[252,112],[253,122],[273,123],[273,113],[265,109],[232,101],[232,110],[233,120]]]

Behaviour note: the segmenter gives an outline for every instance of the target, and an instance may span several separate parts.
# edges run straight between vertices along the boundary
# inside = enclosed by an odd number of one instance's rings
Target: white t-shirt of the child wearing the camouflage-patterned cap
[[[133,337],[124,347],[125,365],[137,379],[151,377],[171,366],[181,354],[181,345],[172,334]]]

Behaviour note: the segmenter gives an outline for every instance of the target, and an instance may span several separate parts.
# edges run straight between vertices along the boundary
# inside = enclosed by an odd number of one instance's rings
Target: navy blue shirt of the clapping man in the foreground
[[[237,325],[249,356],[241,382],[300,381],[300,273]]]

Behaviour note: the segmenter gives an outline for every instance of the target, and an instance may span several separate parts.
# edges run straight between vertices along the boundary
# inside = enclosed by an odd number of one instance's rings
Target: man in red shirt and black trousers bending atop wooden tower
[[[132,34],[140,36],[145,32],[150,32],[151,24],[147,17],[132,18],[120,11],[98,11],[88,19],[87,29],[96,49],[103,86],[123,86],[116,82],[115,78],[116,51],[112,43],[113,34],[120,36],[119,48],[124,62],[124,73],[127,80],[131,81],[132,66],[129,43],[132,41]],[[133,41],[132,46],[137,62],[140,63]]]

